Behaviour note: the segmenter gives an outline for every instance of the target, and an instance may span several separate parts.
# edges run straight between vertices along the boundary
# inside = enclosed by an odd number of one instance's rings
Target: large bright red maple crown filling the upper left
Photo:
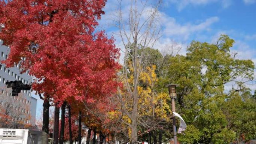
[[[33,89],[46,96],[45,107],[50,98],[59,105],[68,99],[90,103],[116,91],[119,49],[104,31],[95,32],[105,3],[0,1],[0,39],[10,48],[3,62],[19,63],[35,77]]]

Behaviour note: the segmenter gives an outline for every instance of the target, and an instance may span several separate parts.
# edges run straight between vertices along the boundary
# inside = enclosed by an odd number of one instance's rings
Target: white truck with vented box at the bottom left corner
[[[0,144],[41,144],[40,131],[0,129]]]

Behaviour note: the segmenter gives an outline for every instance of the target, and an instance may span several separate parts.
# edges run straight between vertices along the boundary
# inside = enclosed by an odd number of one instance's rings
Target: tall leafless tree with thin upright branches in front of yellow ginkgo
[[[119,34],[124,46],[124,93],[119,91],[119,99],[122,112],[127,115],[131,123],[124,122],[131,129],[131,144],[137,144],[138,140],[138,77],[142,70],[142,57],[144,48],[153,48],[159,39],[158,7],[161,0],[131,0],[129,11],[126,13],[122,0],[119,0],[118,21]],[[128,18],[127,18],[128,16]],[[138,50],[141,49],[140,56]],[[130,71],[130,64],[133,71]],[[128,82],[129,76],[133,77],[132,85]],[[126,97],[126,98],[124,98]],[[125,102],[129,99],[130,103]],[[129,104],[129,108],[127,105]]]

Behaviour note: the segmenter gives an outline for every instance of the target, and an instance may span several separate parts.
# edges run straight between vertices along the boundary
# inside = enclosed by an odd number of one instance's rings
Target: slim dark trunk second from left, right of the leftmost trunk
[[[54,144],[59,143],[59,119],[60,119],[60,108],[55,105],[54,110]]]

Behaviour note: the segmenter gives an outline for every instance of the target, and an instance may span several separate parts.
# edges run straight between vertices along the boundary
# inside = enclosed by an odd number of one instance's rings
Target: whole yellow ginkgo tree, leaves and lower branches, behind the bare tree
[[[131,64],[129,64],[131,65]],[[133,75],[132,68],[129,68],[130,75],[121,76],[123,85],[131,87],[133,89]],[[138,140],[147,141],[148,136],[152,135],[152,131],[168,129],[168,125],[163,123],[170,123],[171,108],[168,101],[170,98],[167,93],[157,92],[155,89],[158,82],[157,75],[155,73],[156,65],[147,66],[141,68],[138,76],[139,85],[138,89]],[[125,79],[128,77],[128,79]],[[133,101],[130,98],[131,92],[127,89],[120,89],[120,94],[115,110],[109,113],[109,118],[116,122],[115,131],[118,132],[115,136],[126,136],[127,140],[131,138],[131,113],[133,107]],[[117,124],[118,123],[118,124]],[[152,135],[153,137],[153,135]],[[153,137],[154,138],[154,137]],[[125,141],[124,141],[125,142]]]

